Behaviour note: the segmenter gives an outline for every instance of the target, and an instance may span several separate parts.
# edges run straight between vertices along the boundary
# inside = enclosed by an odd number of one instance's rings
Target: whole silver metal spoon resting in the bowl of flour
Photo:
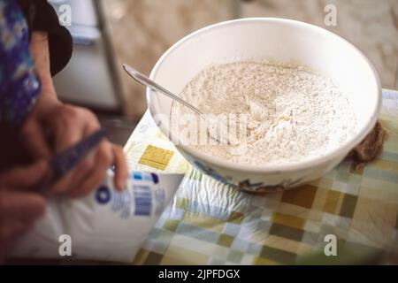
[[[229,143],[233,146],[240,144],[240,142],[238,142],[236,139],[233,139],[231,136],[229,136],[229,134],[226,134],[227,135],[226,137],[220,136],[220,134],[218,134],[217,128],[215,127],[215,125],[218,125],[218,121],[215,121],[214,119],[209,119],[208,116],[204,115],[203,112],[197,109],[194,105],[186,102],[185,100],[181,99],[179,96],[174,95],[171,91],[158,85],[155,81],[150,80],[147,76],[134,70],[129,65],[123,64],[123,68],[125,69],[126,73],[128,73],[134,80],[141,83],[142,85],[151,88],[152,90],[155,90],[157,92],[160,92],[165,96],[169,96],[173,100],[183,104],[184,106],[187,106],[192,111],[195,111],[195,113],[197,113],[199,117],[204,119],[204,121],[206,122],[207,131],[210,137],[213,138],[214,140],[222,143]]]

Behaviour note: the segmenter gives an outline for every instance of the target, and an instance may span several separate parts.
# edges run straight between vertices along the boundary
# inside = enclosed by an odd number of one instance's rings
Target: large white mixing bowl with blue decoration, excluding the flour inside
[[[251,18],[204,27],[175,43],[157,61],[150,78],[180,94],[196,74],[211,64],[273,59],[298,63],[332,78],[348,96],[357,116],[356,134],[322,157],[292,164],[233,164],[189,146],[177,148],[191,164],[217,180],[248,191],[274,191],[296,187],[320,178],[333,169],[371,131],[380,111],[378,74],[369,60],[352,44],[321,27],[290,19]],[[152,117],[166,136],[172,100],[147,89]]]

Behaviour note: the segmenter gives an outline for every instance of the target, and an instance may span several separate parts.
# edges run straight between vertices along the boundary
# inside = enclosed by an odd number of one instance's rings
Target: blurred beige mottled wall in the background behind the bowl
[[[337,8],[337,26],[325,27],[325,5]],[[149,74],[157,58],[190,32],[236,17],[302,20],[339,34],[364,52],[384,88],[397,88],[398,0],[103,0],[118,65]],[[146,109],[144,88],[119,68],[126,114]]]

